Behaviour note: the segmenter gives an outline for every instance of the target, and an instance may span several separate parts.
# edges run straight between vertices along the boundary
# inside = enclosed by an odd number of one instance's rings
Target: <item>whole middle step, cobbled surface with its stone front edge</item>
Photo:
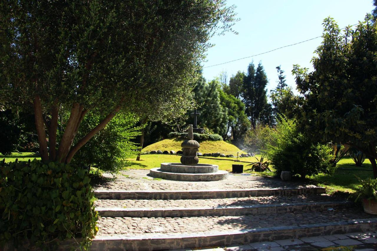
[[[103,217],[191,217],[318,211],[350,207],[353,202],[327,194],[196,200],[97,200]]]

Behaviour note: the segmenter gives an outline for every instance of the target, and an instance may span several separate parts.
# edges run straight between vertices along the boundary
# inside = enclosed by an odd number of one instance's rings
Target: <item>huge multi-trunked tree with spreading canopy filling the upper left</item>
[[[32,107],[42,161],[69,163],[120,110],[153,114],[185,100],[233,9],[224,0],[2,1],[0,104]],[[104,119],[77,140],[88,111]]]

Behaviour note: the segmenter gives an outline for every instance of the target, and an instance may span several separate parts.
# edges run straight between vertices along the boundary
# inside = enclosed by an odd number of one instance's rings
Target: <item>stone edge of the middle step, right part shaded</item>
[[[353,202],[302,202],[284,204],[255,204],[239,207],[196,207],[196,208],[121,208],[97,207],[101,217],[198,217],[198,216],[238,216],[292,211],[320,211],[328,208],[340,209],[354,205]]]

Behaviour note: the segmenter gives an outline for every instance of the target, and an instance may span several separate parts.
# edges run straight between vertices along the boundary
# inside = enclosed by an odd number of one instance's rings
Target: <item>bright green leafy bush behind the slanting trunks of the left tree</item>
[[[101,116],[93,113],[87,115],[81,122],[78,138],[86,135],[99,121]],[[89,166],[97,164],[98,169],[110,173],[120,171],[126,165],[125,160],[131,158],[138,148],[132,142],[132,139],[140,135],[141,128],[135,127],[137,122],[138,118],[132,113],[118,113],[79,150],[73,162]]]

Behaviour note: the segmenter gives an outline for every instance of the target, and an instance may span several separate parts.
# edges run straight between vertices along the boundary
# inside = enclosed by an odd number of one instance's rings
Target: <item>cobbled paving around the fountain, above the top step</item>
[[[147,174],[149,174],[149,170],[123,171],[122,174],[118,175],[115,180],[104,181],[101,184],[97,184],[94,188],[98,190],[182,191],[213,189],[231,190],[250,188],[291,188],[306,186],[297,182],[284,182],[278,178],[265,178],[257,175],[230,174],[229,178],[223,181],[190,182],[153,179],[152,177],[147,176]]]

